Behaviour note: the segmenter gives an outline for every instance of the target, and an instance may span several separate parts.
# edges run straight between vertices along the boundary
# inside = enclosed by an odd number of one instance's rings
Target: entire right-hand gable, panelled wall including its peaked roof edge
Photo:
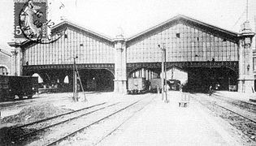
[[[178,15],[127,40],[127,62],[238,61],[239,36],[184,15]],[[163,46],[164,45],[164,46]]]

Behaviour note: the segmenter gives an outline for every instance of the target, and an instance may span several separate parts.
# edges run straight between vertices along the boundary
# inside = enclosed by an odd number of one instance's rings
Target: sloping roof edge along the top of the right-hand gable
[[[131,41],[139,36],[142,36],[142,35],[145,35],[145,33],[148,33],[148,32],[151,32],[151,31],[154,31],[155,29],[157,28],[160,28],[160,27],[163,27],[164,25],[166,24],[169,24],[171,22],[174,22],[176,20],[180,20],[180,19],[184,19],[184,20],[187,20],[187,21],[190,21],[194,24],[199,24],[199,25],[202,25],[202,26],[205,26],[206,28],[210,28],[210,29],[213,29],[213,30],[216,30],[218,32],[222,32],[222,33],[226,33],[228,35],[231,35],[233,37],[236,37],[236,36],[239,36],[239,33],[237,32],[232,32],[232,31],[228,31],[226,29],[223,29],[223,28],[219,28],[219,27],[216,27],[215,25],[211,25],[211,24],[206,24],[206,23],[203,23],[202,21],[199,21],[197,19],[192,19],[188,16],[185,16],[185,15],[176,15],[175,17],[172,17],[171,19],[167,19],[167,21],[164,21],[163,23],[161,24],[158,24],[152,28],[149,28],[149,29],[146,29],[145,31],[143,32],[140,32],[138,33],[137,35],[135,36],[131,36],[127,39],[127,41]]]

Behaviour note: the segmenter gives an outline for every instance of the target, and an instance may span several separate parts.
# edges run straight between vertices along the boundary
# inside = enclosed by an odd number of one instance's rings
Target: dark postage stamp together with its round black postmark
[[[14,0],[14,2],[15,38],[49,44],[63,36],[65,29],[52,31],[54,21],[47,18],[47,0]]]

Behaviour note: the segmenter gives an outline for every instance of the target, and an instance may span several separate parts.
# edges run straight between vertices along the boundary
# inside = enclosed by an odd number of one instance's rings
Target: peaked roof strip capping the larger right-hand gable
[[[199,21],[197,19],[192,19],[192,18],[190,18],[188,16],[185,16],[185,15],[176,15],[175,17],[172,17],[171,19],[168,19],[167,21],[164,21],[161,24],[158,24],[158,25],[156,25],[152,28],[146,29],[145,31],[140,32],[135,36],[129,37],[128,41],[132,41],[133,39],[136,39],[137,37],[140,37],[140,36],[145,36],[150,32],[154,32],[158,28],[163,28],[164,26],[166,26],[168,24],[174,24],[174,23],[179,22],[179,21],[183,21],[183,22],[186,22],[187,24],[191,24],[193,26],[197,26],[197,27],[200,27],[200,28],[210,30],[211,32],[219,32],[220,34],[223,34],[225,36],[230,36],[230,37],[235,38],[235,39],[239,34],[237,32],[228,31],[226,29],[219,28],[219,27],[216,27],[216,26],[211,25],[211,24],[203,23],[202,21]]]

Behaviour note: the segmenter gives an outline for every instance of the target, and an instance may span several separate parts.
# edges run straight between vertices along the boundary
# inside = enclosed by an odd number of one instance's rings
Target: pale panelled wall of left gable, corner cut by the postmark
[[[114,45],[78,31],[67,28],[65,35],[50,44],[29,45],[24,50],[24,65],[114,63]]]

